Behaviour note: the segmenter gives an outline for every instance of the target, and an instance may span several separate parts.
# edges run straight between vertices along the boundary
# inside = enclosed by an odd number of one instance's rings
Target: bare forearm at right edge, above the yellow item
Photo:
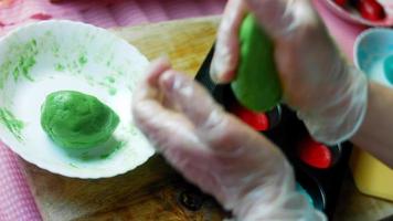
[[[393,168],[393,90],[369,83],[365,117],[351,140]]]

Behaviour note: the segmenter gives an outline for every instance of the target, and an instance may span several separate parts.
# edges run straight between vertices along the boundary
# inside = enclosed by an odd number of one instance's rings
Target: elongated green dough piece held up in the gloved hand
[[[282,99],[282,85],[272,40],[248,14],[240,30],[240,64],[231,87],[238,102],[253,110],[272,109]]]

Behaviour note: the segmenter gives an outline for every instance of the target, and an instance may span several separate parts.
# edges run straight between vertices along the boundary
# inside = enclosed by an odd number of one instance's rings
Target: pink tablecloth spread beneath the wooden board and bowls
[[[321,1],[314,3],[331,35],[348,59],[353,42],[365,27],[347,23]],[[226,0],[73,0],[51,4],[47,0],[0,0],[0,35],[28,22],[47,19],[84,21],[103,28],[132,25],[221,13]],[[0,143],[0,221],[41,220],[19,166],[19,158]]]

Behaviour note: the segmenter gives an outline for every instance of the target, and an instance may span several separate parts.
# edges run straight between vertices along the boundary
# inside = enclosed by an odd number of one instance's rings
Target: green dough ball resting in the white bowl
[[[41,126],[61,147],[95,147],[111,136],[119,117],[96,97],[72,91],[46,96],[41,109]]]

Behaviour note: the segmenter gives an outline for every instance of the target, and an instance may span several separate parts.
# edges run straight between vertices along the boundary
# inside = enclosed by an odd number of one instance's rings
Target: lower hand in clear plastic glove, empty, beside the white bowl
[[[158,151],[237,220],[325,220],[295,191],[282,151],[168,62],[156,61],[134,93],[135,123]]]

